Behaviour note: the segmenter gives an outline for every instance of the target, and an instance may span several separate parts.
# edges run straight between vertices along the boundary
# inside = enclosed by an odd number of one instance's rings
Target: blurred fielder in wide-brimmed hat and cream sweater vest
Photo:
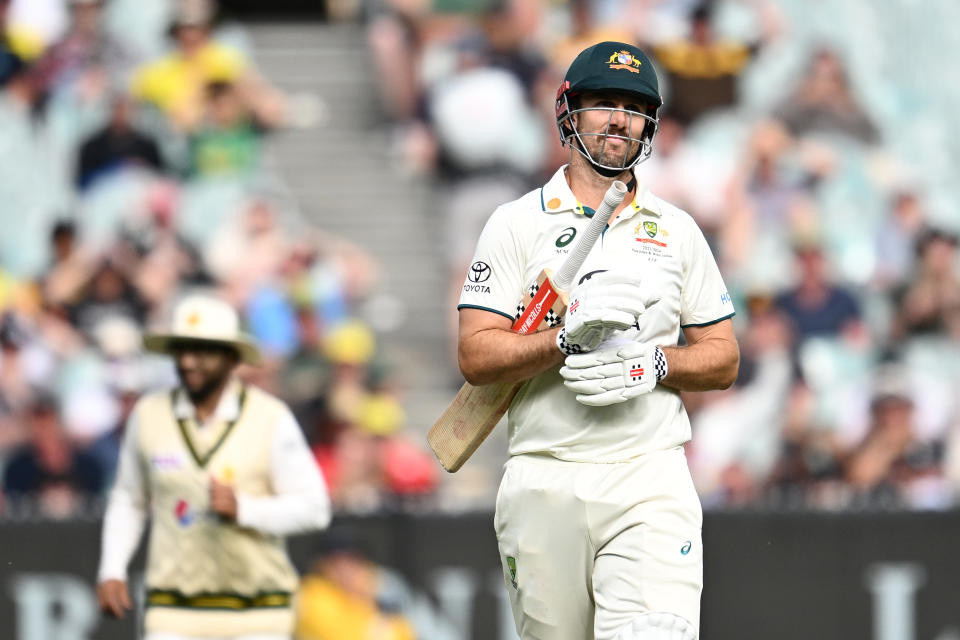
[[[149,514],[146,640],[289,640],[298,576],[283,536],[330,522],[327,488],[290,410],[241,383],[260,354],[236,311],[206,296],[144,337],[173,356],[180,386],[131,414],[103,525],[97,595],[131,608],[127,565]]]

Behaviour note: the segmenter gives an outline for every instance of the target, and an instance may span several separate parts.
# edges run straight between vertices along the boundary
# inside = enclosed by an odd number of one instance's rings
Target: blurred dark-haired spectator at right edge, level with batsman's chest
[[[960,277],[957,236],[927,228],[917,237],[916,271],[896,292],[894,338],[940,335],[960,339]]]

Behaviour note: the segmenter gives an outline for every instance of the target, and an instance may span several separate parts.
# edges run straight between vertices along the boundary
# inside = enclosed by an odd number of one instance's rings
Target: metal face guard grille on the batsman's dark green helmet
[[[566,83],[565,83],[566,84]],[[643,96],[639,96],[644,99]],[[645,99],[644,99],[645,100]],[[562,105],[560,104],[562,101]],[[656,107],[648,107],[648,113],[639,113],[627,109],[613,107],[570,108],[570,94],[561,87],[557,97],[557,128],[560,131],[560,143],[569,145],[587,159],[590,165],[601,175],[612,177],[632,169],[650,157],[653,152],[653,138],[657,133],[658,120]],[[606,126],[595,132],[580,131],[577,127],[578,117],[588,112],[605,112]],[[612,130],[615,114],[623,114],[626,127],[623,130]],[[587,139],[600,139],[599,148],[595,148],[596,157],[590,151],[595,145],[586,144]],[[626,148],[622,155],[611,156],[607,153],[607,141],[610,139],[622,140]]]

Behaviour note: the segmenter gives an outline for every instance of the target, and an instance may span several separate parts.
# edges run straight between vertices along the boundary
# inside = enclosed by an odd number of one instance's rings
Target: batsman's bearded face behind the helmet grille
[[[600,164],[621,166],[640,151],[647,105],[630,93],[584,92],[577,131],[586,150]]]

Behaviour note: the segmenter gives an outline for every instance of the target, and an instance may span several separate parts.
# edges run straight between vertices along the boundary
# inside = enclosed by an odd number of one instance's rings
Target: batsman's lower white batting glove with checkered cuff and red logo
[[[567,356],[560,375],[577,402],[604,407],[653,391],[667,375],[667,359],[660,347],[634,342]]]

